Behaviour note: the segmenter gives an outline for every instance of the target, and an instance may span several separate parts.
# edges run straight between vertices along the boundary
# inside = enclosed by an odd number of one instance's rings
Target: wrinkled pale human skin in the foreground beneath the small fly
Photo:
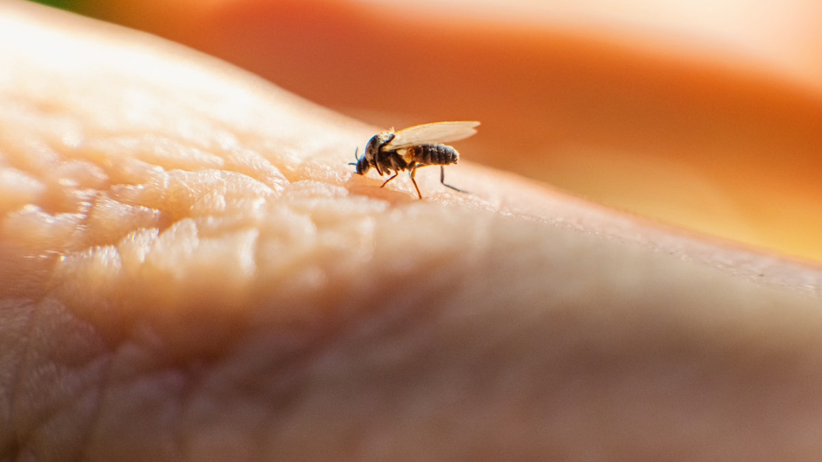
[[[384,127],[0,9],[0,460],[822,451],[819,270],[466,161],[380,189]]]

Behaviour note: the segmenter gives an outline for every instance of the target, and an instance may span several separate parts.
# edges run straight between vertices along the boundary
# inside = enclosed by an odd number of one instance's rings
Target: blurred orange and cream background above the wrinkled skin
[[[62,0],[463,158],[822,262],[818,0]],[[367,140],[363,140],[363,144]]]

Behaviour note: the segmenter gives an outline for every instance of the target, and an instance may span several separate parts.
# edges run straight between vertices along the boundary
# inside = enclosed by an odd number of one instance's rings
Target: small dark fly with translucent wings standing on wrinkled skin
[[[394,129],[377,133],[368,140],[363,156],[357,162],[349,165],[357,166],[357,173],[364,175],[372,167],[380,176],[391,174],[381,187],[397,178],[399,172],[409,170],[409,176],[413,182],[413,187],[417,189],[420,199],[423,194],[419,192],[417,180],[414,176],[417,169],[426,165],[440,166],[440,182],[443,186],[459,192],[464,192],[456,187],[446,184],[445,165],[456,164],[459,160],[459,152],[451,146],[444,145],[448,141],[458,141],[468,138],[477,132],[479,122],[433,122],[415,125],[404,128],[397,132]],[[354,150],[354,157],[357,157],[357,150]]]

